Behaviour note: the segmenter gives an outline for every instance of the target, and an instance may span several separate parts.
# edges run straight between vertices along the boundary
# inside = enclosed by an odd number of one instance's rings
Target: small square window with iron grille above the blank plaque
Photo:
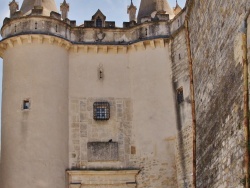
[[[108,120],[110,118],[110,106],[108,102],[95,102],[93,105],[95,120]]]

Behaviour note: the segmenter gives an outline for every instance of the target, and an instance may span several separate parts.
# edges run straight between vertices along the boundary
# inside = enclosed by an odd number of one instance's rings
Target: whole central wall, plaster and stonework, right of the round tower
[[[102,80],[97,74],[100,65],[104,73]],[[76,121],[76,134],[70,132],[69,139],[70,157],[74,156],[70,168],[139,169],[138,188],[176,188],[176,96],[168,40],[138,44],[127,52],[70,50],[69,70],[70,103],[74,103],[70,107],[69,126]],[[92,106],[99,100],[111,104],[111,118],[107,122],[93,120]],[[127,109],[126,101],[130,102]],[[86,102],[89,109],[81,110],[81,102]],[[87,136],[79,139],[81,111],[87,114],[84,123],[88,130]],[[132,114],[131,120],[126,118],[127,112]],[[84,148],[87,151],[88,142],[110,139],[118,143],[119,161],[90,162],[87,152],[80,154]],[[77,159],[78,153],[83,160]]]

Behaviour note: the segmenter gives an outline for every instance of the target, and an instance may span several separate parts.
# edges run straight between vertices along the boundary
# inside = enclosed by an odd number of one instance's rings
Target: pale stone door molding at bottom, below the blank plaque
[[[67,171],[69,188],[135,188],[139,170]]]

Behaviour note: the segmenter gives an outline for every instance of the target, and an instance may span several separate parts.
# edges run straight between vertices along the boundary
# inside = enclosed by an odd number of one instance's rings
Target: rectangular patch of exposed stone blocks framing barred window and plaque
[[[93,103],[108,101],[110,119],[96,121],[93,119]],[[128,163],[132,136],[132,102],[130,99],[83,98],[70,101],[70,167],[85,168],[120,168]],[[112,139],[116,143],[108,143]],[[102,142],[110,145],[118,143],[118,155],[113,160],[91,157],[90,143]],[[99,144],[100,145],[100,144]],[[88,158],[88,157],[91,157]],[[104,157],[104,156],[103,156]],[[119,161],[117,161],[119,159]],[[94,162],[95,161],[95,162]],[[97,161],[104,161],[98,163]],[[110,163],[108,161],[117,161]]]

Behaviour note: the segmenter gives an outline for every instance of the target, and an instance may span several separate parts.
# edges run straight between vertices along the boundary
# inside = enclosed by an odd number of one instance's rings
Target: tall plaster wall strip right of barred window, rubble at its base
[[[176,187],[175,93],[169,46],[131,52],[133,126],[143,169],[138,187]],[[143,112],[143,113],[142,113]]]

